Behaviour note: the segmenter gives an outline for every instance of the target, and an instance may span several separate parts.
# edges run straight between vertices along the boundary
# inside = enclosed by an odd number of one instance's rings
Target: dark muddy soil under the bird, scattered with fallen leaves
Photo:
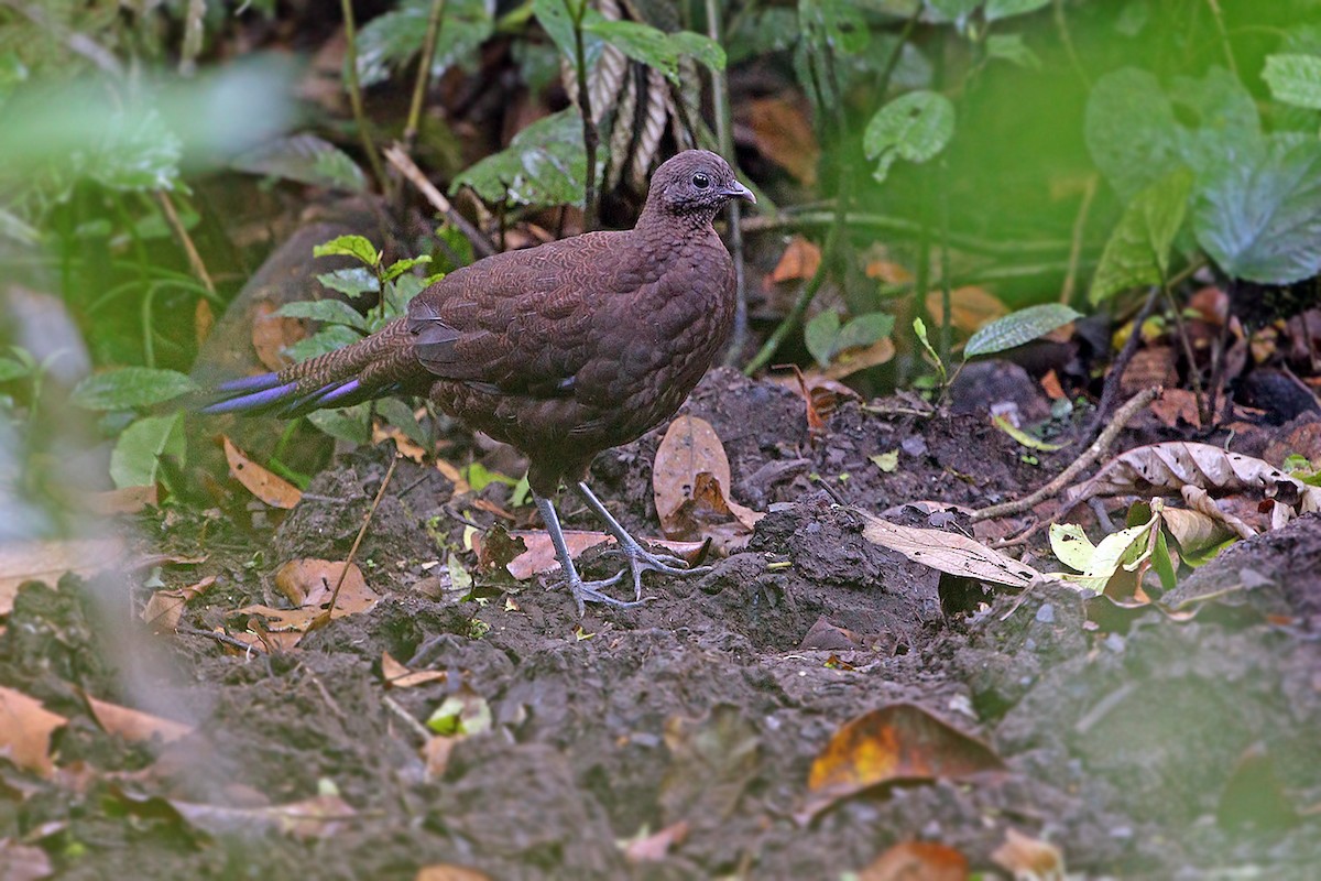
[[[913,839],[1007,877],[991,855],[1013,828],[1057,845],[1078,877],[1321,877],[1321,516],[1189,576],[1180,590],[1222,597],[1189,619],[1098,616],[1067,588],[1021,597],[942,584],[868,543],[835,501],[873,512],[988,505],[1030,491],[1077,450],[1030,465],[984,417],[857,403],[812,445],[799,398],[731,371],[708,376],[687,411],[723,439],[734,498],[770,514],[709,575],[649,575],[651,601],[637,609],[589,606],[579,621],[544,579],[480,576],[468,600],[445,590],[427,565],[444,560],[437,540],[460,543],[465,511],[480,526],[491,516],[456,506],[452,485],[412,462],[358,551],[382,601],[293,652],[124,623],[152,589],[141,572],[28,585],[0,637],[0,680],[71,721],[54,778],[0,765],[0,837],[41,845],[63,878],[411,880],[449,864],[509,880],[775,880],[839,878]],[[517,466],[456,437],[453,454]],[[643,535],[658,531],[659,437],[593,469],[600,495]],[[894,449],[893,473],[868,458]],[[235,609],[280,602],[281,563],[345,557],[392,452],[337,458],[279,524],[192,509],[141,518],[144,551],[205,556],[162,567],[155,586],[214,575],[182,623],[242,630]],[[502,503],[507,487],[486,495]],[[568,499],[564,512],[597,527]],[[894,516],[925,524],[911,510]],[[585,555],[590,576],[613,565]],[[448,676],[387,689],[382,652]],[[197,732],[164,750],[125,742],[79,689]],[[425,721],[446,696],[483,699],[491,728],[428,769],[403,715]],[[808,769],[831,734],[896,701],[983,738],[1005,770],[881,787],[804,818]],[[350,811],[329,829],[243,822],[330,785]],[[234,811],[203,820],[180,803]],[[621,844],[680,822],[686,835],[653,859]]]

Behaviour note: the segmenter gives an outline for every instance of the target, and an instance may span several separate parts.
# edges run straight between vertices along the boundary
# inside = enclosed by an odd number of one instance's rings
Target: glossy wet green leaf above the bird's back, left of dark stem
[[[450,193],[470,186],[487,202],[581,205],[587,190],[583,122],[575,110],[539,119],[514,136],[509,149],[458,174]]]

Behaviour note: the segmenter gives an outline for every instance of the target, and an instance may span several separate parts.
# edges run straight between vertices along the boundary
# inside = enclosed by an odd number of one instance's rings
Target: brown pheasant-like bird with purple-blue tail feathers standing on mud
[[[651,178],[637,226],[510,251],[431,285],[408,314],[351,346],[218,387],[203,412],[297,415],[394,394],[446,413],[528,458],[528,483],[579,614],[634,605],[642,573],[691,575],[638,544],[585,483],[596,454],[668,419],[729,337],[733,264],[712,227],[729,199],[756,202],[723,159],[686,151]],[[627,568],[584,581],[552,497],[571,483],[618,542]],[[604,593],[624,573],[634,600]]]

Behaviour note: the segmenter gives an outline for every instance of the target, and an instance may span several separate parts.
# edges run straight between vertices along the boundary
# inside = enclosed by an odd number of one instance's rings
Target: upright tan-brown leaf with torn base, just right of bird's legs
[[[651,490],[666,536],[711,536],[729,547],[738,535],[750,535],[764,515],[733,502],[729,486],[729,457],[711,423],[696,416],[674,420],[651,468]],[[720,528],[729,520],[737,527]]]

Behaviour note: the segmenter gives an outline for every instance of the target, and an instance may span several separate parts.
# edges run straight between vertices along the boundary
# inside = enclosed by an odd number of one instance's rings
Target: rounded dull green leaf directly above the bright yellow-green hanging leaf
[[[1181,164],[1174,108],[1145,70],[1124,67],[1096,81],[1085,135],[1096,168],[1124,199]]]

